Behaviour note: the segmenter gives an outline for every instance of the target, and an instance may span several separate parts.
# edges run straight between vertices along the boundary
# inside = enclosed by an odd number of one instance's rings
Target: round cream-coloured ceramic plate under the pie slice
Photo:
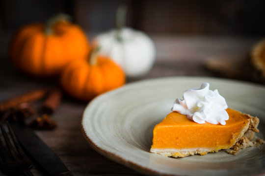
[[[188,88],[210,83],[229,108],[260,118],[258,137],[265,136],[265,87],[246,82],[205,77],[170,77],[140,81],[95,98],[86,107],[82,131],[100,154],[148,175],[256,175],[265,174],[265,144],[240,150],[184,158],[150,153],[152,131],[170,112],[176,98]]]

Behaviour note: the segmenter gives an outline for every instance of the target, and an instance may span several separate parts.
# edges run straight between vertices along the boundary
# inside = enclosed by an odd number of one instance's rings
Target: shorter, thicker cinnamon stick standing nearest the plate
[[[52,89],[40,107],[41,113],[52,114],[60,104],[62,92],[59,88]]]

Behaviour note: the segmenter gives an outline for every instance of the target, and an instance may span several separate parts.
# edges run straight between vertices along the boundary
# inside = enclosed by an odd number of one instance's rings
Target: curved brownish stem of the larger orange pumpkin
[[[46,35],[50,35],[53,33],[53,25],[57,22],[68,22],[71,21],[72,18],[71,16],[67,14],[58,14],[54,17],[51,17],[50,19],[47,20],[44,32]]]

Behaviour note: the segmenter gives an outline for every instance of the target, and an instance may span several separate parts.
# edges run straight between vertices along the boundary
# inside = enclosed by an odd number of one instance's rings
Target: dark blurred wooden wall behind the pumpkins
[[[68,13],[86,31],[115,26],[128,5],[127,25],[152,34],[265,35],[265,0],[0,0],[0,31]]]

